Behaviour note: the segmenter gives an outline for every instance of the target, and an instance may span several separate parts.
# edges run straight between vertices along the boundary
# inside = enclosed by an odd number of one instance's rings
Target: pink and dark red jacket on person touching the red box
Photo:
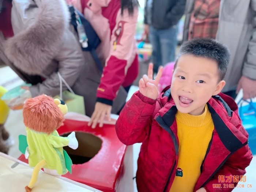
[[[99,59],[105,61],[97,101],[112,105],[120,86],[128,87],[138,76],[139,61],[135,41],[139,9],[121,14],[120,0],[67,0],[72,3],[101,39]]]

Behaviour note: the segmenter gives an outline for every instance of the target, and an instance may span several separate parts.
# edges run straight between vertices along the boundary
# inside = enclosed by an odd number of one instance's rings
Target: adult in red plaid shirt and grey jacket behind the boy
[[[185,14],[183,41],[216,37],[230,49],[222,91],[256,97],[256,0],[189,0]]]

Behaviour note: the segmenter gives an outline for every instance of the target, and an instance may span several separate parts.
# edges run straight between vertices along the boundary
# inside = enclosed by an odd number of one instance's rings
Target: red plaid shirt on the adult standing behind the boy
[[[218,30],[221,0],[195,0],[191,14],[188,39],[214,38]]]

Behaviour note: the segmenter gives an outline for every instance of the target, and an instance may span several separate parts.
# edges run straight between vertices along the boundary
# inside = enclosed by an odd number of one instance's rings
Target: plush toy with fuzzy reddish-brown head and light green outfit
[[[67,105],[63,101],[46,95],[25,102],[23,118],[27,136],[19,136],[19,150],[29,159],[29,165],[34,167],[31,181],[25,187],[27,192],[34,187],[42,168],[52,175],[63,175],[68,171],[72,173],[72,161],[63,147],[78,148],[75,132],[61,137],[56,131],[63,125],[67,112]]]

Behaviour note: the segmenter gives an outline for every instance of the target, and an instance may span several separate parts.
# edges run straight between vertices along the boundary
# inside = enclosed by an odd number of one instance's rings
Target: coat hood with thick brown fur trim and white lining
[[[13,0],[15,35],[4,42],[6,56],[21,71],[41,74],[59,52],[69,19],[64,0]]]

